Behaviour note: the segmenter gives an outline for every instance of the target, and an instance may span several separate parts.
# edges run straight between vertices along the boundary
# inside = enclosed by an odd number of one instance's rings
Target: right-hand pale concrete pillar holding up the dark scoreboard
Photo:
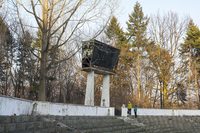
[[[108,74],[103,76],[101,106],[110,107],[110,75]]]

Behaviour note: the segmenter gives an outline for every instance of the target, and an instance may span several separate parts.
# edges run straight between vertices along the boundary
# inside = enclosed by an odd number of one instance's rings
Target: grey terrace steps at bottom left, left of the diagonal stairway
[[[0,116],[0,133],[65,133],[45,116]]]

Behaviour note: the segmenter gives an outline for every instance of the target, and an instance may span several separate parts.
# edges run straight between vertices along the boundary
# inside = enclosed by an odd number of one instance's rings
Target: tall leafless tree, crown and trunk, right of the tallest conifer
[[[180,77],[177,74],[177,68],[179,66],[179,51],[180,44],[186,32],[187,24],[189,22],[188,17],[181,19],[178,14],[174,12],[168,12],[167,14],[151,16],[149,23],[149,36],[156,45],[167,50],[172,57],[172,65],[170,66],[170,77],[168,87],[166,89],[166,98],[169,95],[174,94],[176,83],[180,82]]]

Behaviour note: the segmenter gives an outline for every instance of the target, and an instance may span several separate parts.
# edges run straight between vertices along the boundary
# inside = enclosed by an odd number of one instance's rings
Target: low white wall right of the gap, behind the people
[[[131,114],[134,115],[132,109]],[[200,110],[179,110],[179,109],[145,109],[138,108],[138,115],[152,116],[200,116]],[[127,116],[127,108],[122,108],[122,116]]]

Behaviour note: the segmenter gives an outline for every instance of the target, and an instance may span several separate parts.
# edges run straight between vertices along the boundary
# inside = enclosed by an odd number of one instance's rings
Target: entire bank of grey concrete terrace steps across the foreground
[[[0,116],[0,133],[199,133],[195,116]]]

